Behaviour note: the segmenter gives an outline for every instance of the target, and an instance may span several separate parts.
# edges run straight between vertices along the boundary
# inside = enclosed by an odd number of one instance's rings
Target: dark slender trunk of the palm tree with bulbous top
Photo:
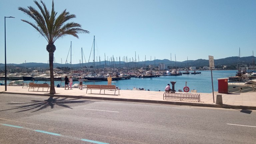
[[[50,80],[51,80],[50,94],[55,94],[56,92],[55,92],[55,88],[54,88],[54,75],[53,75],[54,56],[53,56],[53,53],[56,50],[56,47],[54,44],[48,44],[46,49],[49,52],[49,66],[50,66]]]

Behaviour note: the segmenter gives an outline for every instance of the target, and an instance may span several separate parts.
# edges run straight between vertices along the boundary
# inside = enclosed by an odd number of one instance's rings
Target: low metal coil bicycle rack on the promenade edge
[[[200,94],[194,93],[164,93],[163,99],[195,100],[200,102]]]

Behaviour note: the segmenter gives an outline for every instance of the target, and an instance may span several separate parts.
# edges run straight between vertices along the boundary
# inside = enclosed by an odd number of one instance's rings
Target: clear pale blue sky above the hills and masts
[[[51,9],[51,0],[43,0]],[[95,35],[95,57],[114,55],[138,61],[186,61],[256,55],[256,0],[55,0],[55,11],[67,9],[90,34],[79,39],[66,36],[55,42],[55,62],[64,64],[72,41],[72,64],[88,62]],[[4,63],[4,16],[7,63],[42,62],[49,59],[47,41],[29,24],[31,18],[18,7],[33,0],[0,0],[0,63]],[[83,62],[85,61],[83,60]],[[96,58],[95,58],[96,61]],[[68,63],[70,56],[68,56]],[[90,58],[92,62],[92,57]]]

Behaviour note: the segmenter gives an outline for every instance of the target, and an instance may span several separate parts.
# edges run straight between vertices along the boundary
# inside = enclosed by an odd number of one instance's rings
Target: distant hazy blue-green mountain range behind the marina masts
[[[248,56],[248,57],[241,57],[240,58],[240,65],[241,67],[244,66],[252,66],[253,65],[253,60],[255,59],[254,56]],[[239,61],[239,57],[227,57],[227,58],[223,58],[223,59],[215,59],[214,60],[214,65],[215,67],[222,67],[222,66],[233,66],[236,67]],[[198,60],[188,60],[188,61],[182,61],[182,62],[178,62],[178,61],[170,61],[168,59],[163,59],[163,60],[152,60],[152,61],[140,61],[140,62],[136,62],[136,67],[143,67],[143,66],[148,66],[148,65],[153,65],[153,66],[158,66],[159,64],[166,64],[167,66],[172,66],[172,67],[178,67],[178,68],[187,68],[188,67],[196,67],[198,68],[202,68],[204,66],[209,66],[209,60],[205,60],[205,59],[198,59]],[[124,67],[124,66],[128,66],[129,67],[134,67],[134,62],[129,62],[129,63],[125,63],[124,62],[119,62],[116,61],[114,63],[106,61],[106,65],[107,67]],[[16,67],[20,67],[20,68],[36,68],[36,67],[40,67],[40,68],[49,68],[49,64],[47,63],[23,63],[23,64],[7,64],[12,65],[12,66],[16,66]],[[75,68],[80,68],[82,66],[82,64],[72,64],[72,69]],[[89,63],[83,63],[83,66],[86,67],[91,67],[93,66],[93,62],[89,62]],[[70,64],[59,64],[59,63],[54,63],[54,67],[70,67]],[[105,61],[101,61],[101,62],[95,62],[95,68],[104,68],[105,67]],[[4,64],[0,63],[0,70],[4,70]]]

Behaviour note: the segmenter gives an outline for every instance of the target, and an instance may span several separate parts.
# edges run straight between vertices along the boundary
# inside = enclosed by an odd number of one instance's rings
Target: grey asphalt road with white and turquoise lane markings
[[[256,111],[0,94],[1,144],[255,144]]]

